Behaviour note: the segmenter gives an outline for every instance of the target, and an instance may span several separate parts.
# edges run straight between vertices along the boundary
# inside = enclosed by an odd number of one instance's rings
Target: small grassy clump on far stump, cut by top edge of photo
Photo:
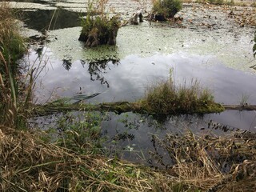
[[[156,20],[166,21],[168,18],[174,18],[174,15],[181,9],[180,0],[154,0],[152,12]]]

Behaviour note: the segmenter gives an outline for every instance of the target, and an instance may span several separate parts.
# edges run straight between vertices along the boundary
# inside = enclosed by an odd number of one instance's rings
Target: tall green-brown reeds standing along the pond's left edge
[[[17,127],[21,108],[18,105],[18,58],[26,51],[18,25],[8,2],[0,4],[0,123]]]

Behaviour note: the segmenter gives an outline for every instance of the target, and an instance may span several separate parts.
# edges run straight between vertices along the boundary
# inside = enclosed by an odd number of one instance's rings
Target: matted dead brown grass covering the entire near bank
[[[40,135],[40,136],[39,136]],[[44,141],[43,132],[0,130],[1,191],[255,191],[256,135],[154,136],[153,170]],[[90,145],[89,145],[90,146]],[[162,161],[163,149],[172,160]],[[158,157],[158,158],[157,158]]]

